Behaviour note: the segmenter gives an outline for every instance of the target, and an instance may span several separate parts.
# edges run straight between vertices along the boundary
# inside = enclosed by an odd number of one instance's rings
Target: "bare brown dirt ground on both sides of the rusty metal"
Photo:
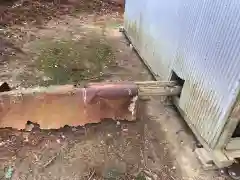
[[[0,5],[5,13],[0,18],[0,81],[19,89],[151,80],[118,31],[122,7],[102,1],[33,2]],[[141,102],[136,122],[1,129],[0,179],[224,180],[201,169],[194,147],[174,107],[154,98]]]

